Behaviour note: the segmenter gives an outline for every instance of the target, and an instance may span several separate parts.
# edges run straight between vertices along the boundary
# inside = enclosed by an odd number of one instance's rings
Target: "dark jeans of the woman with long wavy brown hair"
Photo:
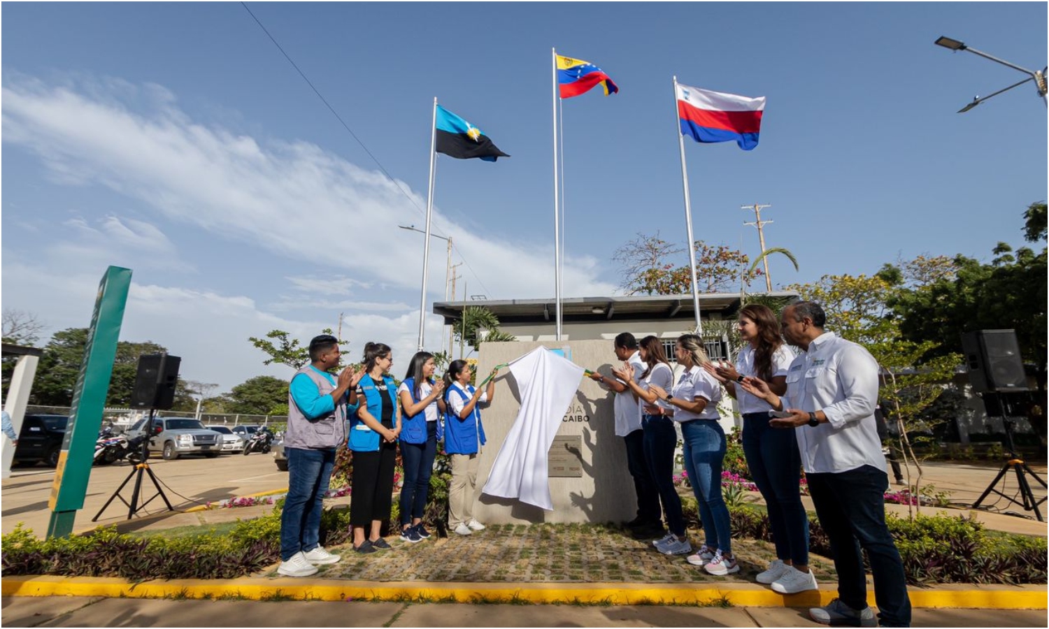
[[[809,564],[809,516],[801,504],[801,455],[793,429],[770,428],[769,414],[743,415],[743,452],[765,498],[776,558]]]

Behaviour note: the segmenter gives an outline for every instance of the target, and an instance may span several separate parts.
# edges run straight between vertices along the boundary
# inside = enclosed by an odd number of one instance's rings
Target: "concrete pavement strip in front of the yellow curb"
[[[4,627],[820,627],[806,609],[4,597]],[[1045,627],[1046,612],[916,609],[915,627]]]

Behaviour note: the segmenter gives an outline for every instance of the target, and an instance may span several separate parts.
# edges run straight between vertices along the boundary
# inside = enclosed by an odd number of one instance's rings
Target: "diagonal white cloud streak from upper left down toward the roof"
[[[129,102],[152,104],[148,113]],[[253,137],[194,123],[159,86],[134,90],[125,82],[50,86],[16,79],[3,89],[4,142],[36,152],[65,182],[95,182],[152,207],[169,219],[224,235],[294,260],[411,288],[403,264],[377,264],[390,251],[413,252],[418,237],[398,230],[415,211],[402,189],[381,173],[359,168],[303,142],[260,144]],[[425,205],[421,195],[412,200]],[[308,220],[303,219],[308,208]],[[438,224],[472,261],[483,284],[504,298],[549,297],[553,257],[534,242],[508,241]],[[314,244],[317,225],[351,234],[369,224],[381,238],[342,247]],[[594,281],[597,261],[573,258],[564,285],[575,295],[608,294]],[[434,269],[440,275],[440,269]],[[490,296],[494,297],[494,296]]]

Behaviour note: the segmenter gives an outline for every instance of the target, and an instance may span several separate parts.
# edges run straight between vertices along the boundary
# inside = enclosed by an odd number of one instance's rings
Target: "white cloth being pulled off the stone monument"
[[[547,457],[583,368],[545,347],[510,363],[521,407],[495,455],[481,493],[553,511]]]

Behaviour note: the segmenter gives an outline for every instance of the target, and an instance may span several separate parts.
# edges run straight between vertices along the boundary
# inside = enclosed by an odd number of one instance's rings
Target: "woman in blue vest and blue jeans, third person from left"
[[[411,357],[408,372],[398,389],[404,421],[401,430],[401,539],[421,542],[430,537],[423,525],[423,512],[430,490],[433,458],[437,454],[437,417],[445,412],[441,395],[445,381],[433,382],[433,354],[421,351]]]

